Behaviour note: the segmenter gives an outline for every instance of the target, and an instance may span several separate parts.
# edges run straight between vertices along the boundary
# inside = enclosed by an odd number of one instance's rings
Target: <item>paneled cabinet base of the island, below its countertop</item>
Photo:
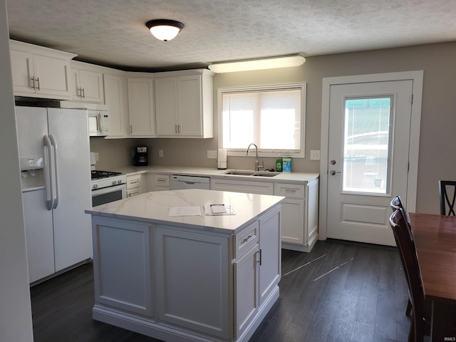
[[[279,298],[281,206],[246,226],[93,215],[93,318],[163,341],[249,341]]]

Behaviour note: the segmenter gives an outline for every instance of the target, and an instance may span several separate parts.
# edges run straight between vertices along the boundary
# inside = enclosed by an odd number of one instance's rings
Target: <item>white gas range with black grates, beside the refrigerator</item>
[[[91,170],[92,207],[127,198],[127,176],[120,172]]]

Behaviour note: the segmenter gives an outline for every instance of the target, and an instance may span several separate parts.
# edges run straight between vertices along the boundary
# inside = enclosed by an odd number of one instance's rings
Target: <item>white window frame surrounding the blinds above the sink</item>
[[[306,157],[305,153],[305,141],[306,141],[306,82],[298,83],[279,83],[279,84],[267,84],[259,86],[241,86],[241,87],[226,87],[226,88],[217,88],[217,111],[218,111],[218,146],[222,147],[223,141],[223,108],[222,108],[222,94],[229,92],[242,92],[242,91],[255,91],[255,90],[286,90],[290,88],[301,88],[301,125],[300,125],[300,134],[301,134],[301,146],[300,152],[287,152],[285,150],[273,150],[265,151],[258,149],[258,155],[261,157],[277,157],[278,155],[286,155],[287,157]],[[247,151],[247,146],[245,149],[227,149],[227,155],[230,156],[245,156]]]

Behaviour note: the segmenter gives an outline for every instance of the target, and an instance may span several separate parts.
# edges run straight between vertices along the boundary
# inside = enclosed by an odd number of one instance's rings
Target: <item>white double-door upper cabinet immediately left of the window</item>
[[[214,137],[212,76],[203,69],[155,74],[157,137]]]

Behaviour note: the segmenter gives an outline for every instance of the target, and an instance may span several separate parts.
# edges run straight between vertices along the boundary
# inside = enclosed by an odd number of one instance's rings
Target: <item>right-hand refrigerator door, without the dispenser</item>
[[[92,257],[90,147],[86,110],[48,108],[54,142],[57,206],[53,209],[56,271]]]

